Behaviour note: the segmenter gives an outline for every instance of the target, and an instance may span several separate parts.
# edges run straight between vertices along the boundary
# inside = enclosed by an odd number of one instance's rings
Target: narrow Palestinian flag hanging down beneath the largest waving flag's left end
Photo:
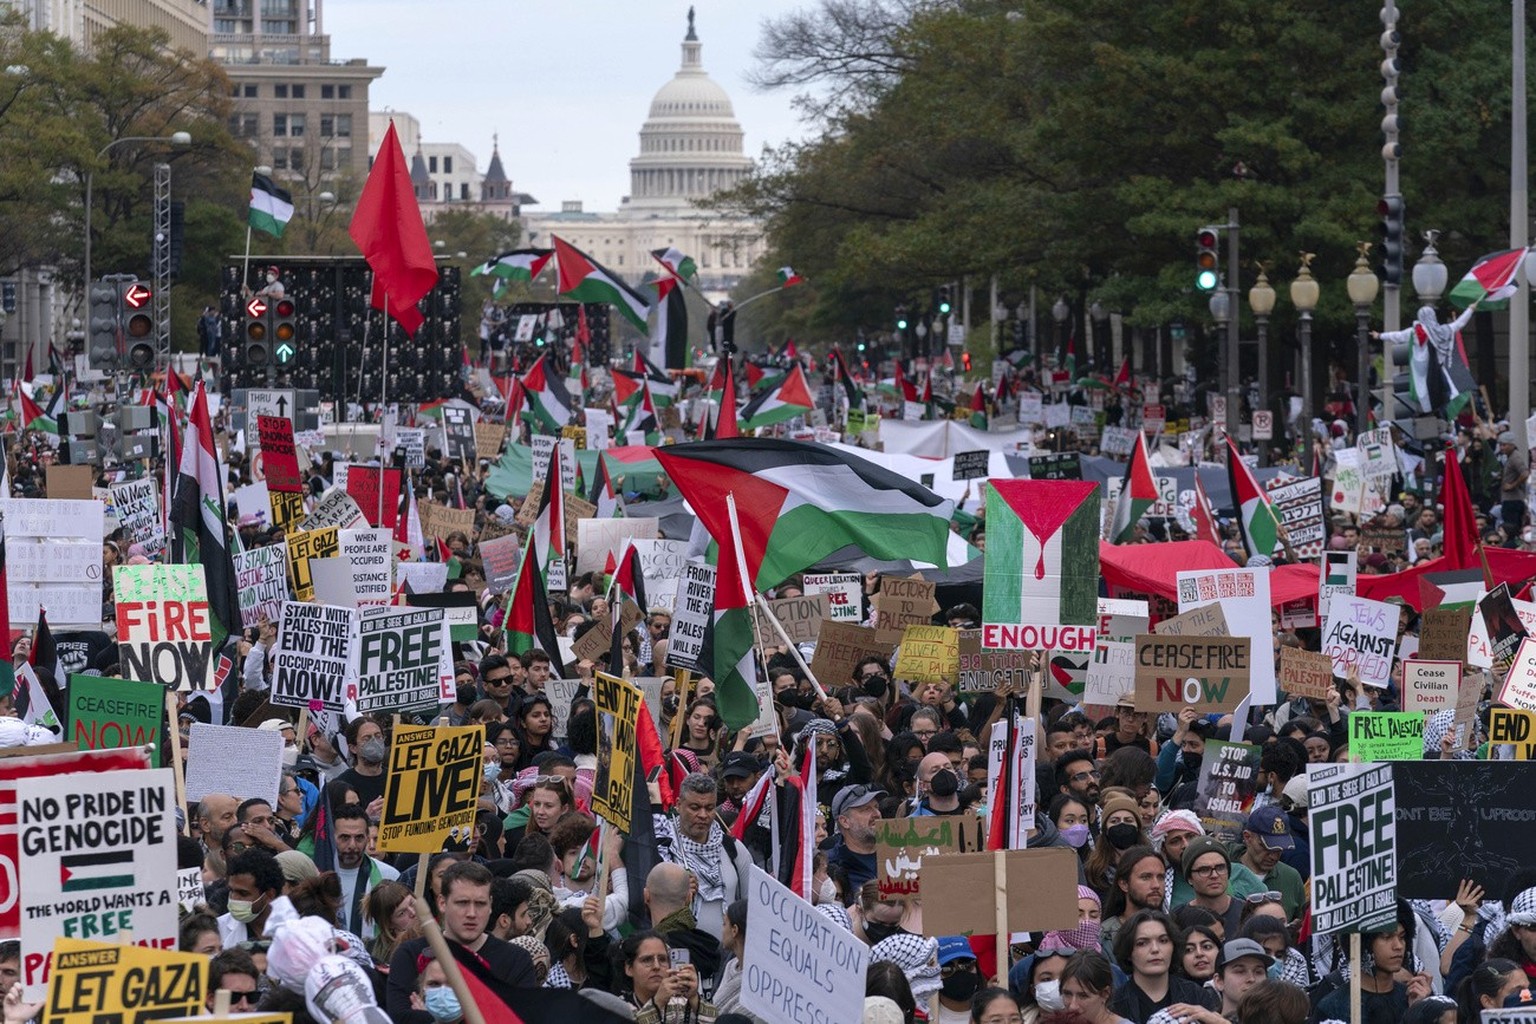
[[[753,477],[743,474],[740,479],[748,488],[753,487]],[[751,570],[743,551],[748,527],[740,522],[740,514],[745,513],[748,517],[756,514],[756,510],[751,508],[756,494],[748,488],[743,488],[740,494],[725,491],[723,497],[714,500],[716,505],[720,505],[716,510],[716,517],[723,520],[725,530],[714,534],[720,545],[720,557],[714,568],[711,636],[714,663],[710,676],[714,677],[716,697],[720,700],[720,718],[730,729],[745,729],[757,720],[757,656],[753,652],[756,646],[753,606],[756,602]],[[742,505],[748,508],[743,510]],[[694,508],[699,508],[697,504]]]

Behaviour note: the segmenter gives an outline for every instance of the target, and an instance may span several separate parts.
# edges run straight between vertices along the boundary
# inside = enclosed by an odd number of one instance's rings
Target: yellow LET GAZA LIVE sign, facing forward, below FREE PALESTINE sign
[[[379,849],[436,854],[468,849],[481,791],[485,731],[396,726],[390,742]]]

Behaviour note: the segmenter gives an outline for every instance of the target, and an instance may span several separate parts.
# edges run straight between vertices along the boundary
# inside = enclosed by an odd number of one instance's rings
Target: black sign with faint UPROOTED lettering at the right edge
[[[1536,761],[1393,761],[1390,771],[1396,821],[1404,826],[1396,834],[1399,897],[1444,900],[1435,894],[1458,878],[1504,892],[1510,875],[1530,864]],[[1312,829],[1316,857],[1315,823]]]

